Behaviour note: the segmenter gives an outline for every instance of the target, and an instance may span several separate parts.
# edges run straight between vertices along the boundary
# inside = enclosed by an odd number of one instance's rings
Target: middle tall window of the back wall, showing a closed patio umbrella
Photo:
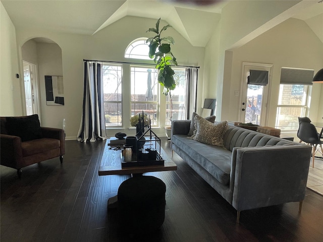
[[[131,116],[144,111],[150,117],[151,126],[158,126],[159,85],[156,69],[143,66],[130,67]]]

